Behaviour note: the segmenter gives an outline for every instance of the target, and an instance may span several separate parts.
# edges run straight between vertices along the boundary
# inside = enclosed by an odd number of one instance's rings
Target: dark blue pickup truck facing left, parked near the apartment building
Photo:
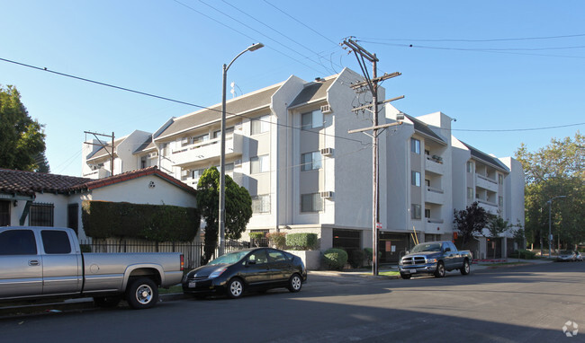
[[[401,258],[398,269],[404,279],[417,274],[445,277],[446,271],[455,269],[467,275],[471,272],[472,261],[472,253],[457,251],[453,242],[424,242],[415,245],[410,253]]]

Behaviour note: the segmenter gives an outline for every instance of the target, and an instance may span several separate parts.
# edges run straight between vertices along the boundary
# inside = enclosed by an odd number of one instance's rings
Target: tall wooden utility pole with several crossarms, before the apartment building
[[[400,96],[394,99],[390,99],[388,101],[378,101],[378,83],[390,79],[392,77],[400,76],[401,73],[392,73],[392,74],[384,74],[383,76],[378,77],[378,65],[379,59],[376,57],[375,54],[370,53],[365,48],[359,46],[356,41],[347,39],[344,40],[342,45],[347,46],[354,54],[356,55],[357,62],[359,63],[360,68],[362,69],[362,73],[365,77],[365,81],[357,84],[352,84],[352,89],[359,90],[361,88],[366,88],[372,93],[372,103],[366,104],[365,106],[357,107],[352,111],[360,111],[360,110],[370,110],[372,108],[372,113],[374,115],[373,126],[371,128],[359,128],[356,130],[349,130],[348,133],[356,133],[356,132],[365,132],[365,131],[373,131],[372,134],[372,275],[378,275],[378,229],[382,227],[380,223],[380,185],[379,185],[379,178],[380,178],[380,166],[379,166],[379,149],[378,149],[378,136],[383,132],[380,132],[380,129],[389,128],[395,125],[401,125],[401,119],[404,119],[403,116],[397,118],[397,122],[392,124],[384,124],[378,125],[378,105],[382,105],[384,103],[395,101],[404,98],[404,96]],[[365,67],[365,60],[368,60],[372,63],[372,77],[367,72]],[[369,135],[368,135],[369,136]]]

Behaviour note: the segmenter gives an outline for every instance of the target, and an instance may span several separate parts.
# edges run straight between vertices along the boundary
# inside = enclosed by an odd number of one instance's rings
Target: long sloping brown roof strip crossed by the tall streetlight
[[[270,106],[272,96],[281,87],[275,84],[258,92],[244,94],[236,99],[226,102],[226,117],[233,117],[249,110],[255,110]],[[186,116],[173,119],[173,123],[165,128],[155,139],[173,136],[188,131],[213,121],[221,119],[221,104],[216,104],[209,109],[199,110]]]

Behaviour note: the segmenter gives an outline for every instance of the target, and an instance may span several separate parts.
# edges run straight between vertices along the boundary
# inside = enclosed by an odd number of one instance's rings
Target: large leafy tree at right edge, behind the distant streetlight
[[[548,201],[565,196],[550,204],[555,241],[567,247],[585,242],[585,136],[577,131],[574,138],[552,139],[534,153],[523,144],[516,158],[526,173],[527,241],[548,248]]]

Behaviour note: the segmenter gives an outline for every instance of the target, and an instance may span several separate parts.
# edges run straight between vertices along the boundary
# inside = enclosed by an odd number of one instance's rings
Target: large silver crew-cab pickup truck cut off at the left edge
[[[125,298],[154,306],[158,286],[179,284],[184,258],[168,253],[82,253],[76,233],[55,227],[0,227],[0,301],[93,297],[103,307]]]

